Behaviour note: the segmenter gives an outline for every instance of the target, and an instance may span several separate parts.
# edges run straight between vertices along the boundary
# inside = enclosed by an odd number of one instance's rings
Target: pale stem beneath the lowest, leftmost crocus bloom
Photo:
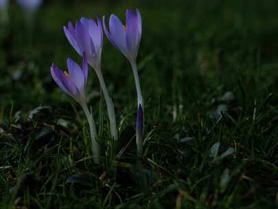
[[[95,128],[95,120],[93,120],[93,113],[90,113],[89,109],[88,109],[88,105],[86,104],[86,102],[83,102],[83,104],[81,104],[84,113],[86,115],[86,118],[89,122],[89,126],[90,126],[90,133],[91,133],[91,140],[92,140],[92,150],[93,150],[93,155],[95,155],[95,157],[93,158],[93,162],[95,162],[95,164],[100,164],[100,145],[97,142],[97,129]]]

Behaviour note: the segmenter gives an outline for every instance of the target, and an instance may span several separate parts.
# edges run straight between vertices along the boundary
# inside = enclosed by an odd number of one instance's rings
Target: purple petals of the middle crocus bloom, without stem
[[[73,48],[82,56],[85,52],[88,63],[95,70],[100,70],[102,58],[102,23],[100,19],[97,21],[82,18],[76,22],[76,28],[69,22],[68,28],[64,26],[64,32]]]

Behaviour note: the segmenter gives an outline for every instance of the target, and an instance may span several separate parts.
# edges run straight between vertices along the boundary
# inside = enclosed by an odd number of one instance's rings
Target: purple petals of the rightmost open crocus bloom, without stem
[[[111,43],[121,51],[130,62],[135,62],[141,41],[142,23],[139,10],[126,10],[126,25],[115,14],[109,19],[109,30],[105,17],[102,18],[104,32]]]

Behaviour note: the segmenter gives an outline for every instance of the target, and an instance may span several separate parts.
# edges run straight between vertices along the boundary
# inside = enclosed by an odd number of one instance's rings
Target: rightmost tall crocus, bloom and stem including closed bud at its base
[[[105,17],[102,18],[104,32],[116,47],[130,61],[135,85],[137,89],[138,115],[137,117],[137,151],[142,153],[143,147],[143,96],[137,71],[137,54],[141,41],[142,23],[139,10],[126,10],[126,25],[123,25],[114,14],[109,19],[109,30],[106,28]],[[138,125],[141,123],[140,125]]]

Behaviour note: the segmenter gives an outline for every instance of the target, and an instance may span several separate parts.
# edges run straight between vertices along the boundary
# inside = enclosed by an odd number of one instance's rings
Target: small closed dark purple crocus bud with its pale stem
[[[137,153],[142,155],[143,153],[143,109],[141,104],[139,104],[137,111],[137,129],[136,129],[136,144],[137,144]]]

